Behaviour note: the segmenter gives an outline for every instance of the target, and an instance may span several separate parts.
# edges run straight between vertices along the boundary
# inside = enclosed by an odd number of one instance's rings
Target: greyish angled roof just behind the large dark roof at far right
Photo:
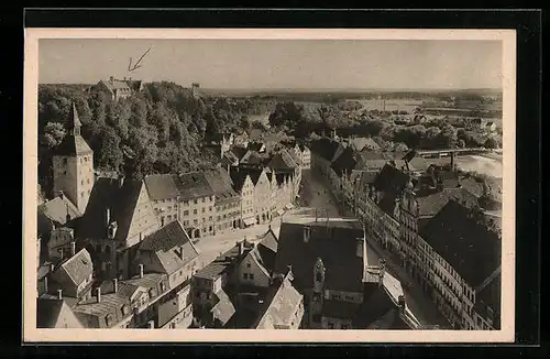
[[[440,192],[417,197],[419,216],[436,216],[451,199],[468,208],[477,205],[477,197],[466,188],[444,188]]]

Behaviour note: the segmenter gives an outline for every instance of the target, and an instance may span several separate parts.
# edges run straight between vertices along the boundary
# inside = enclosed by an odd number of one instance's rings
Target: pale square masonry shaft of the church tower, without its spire
[[[94,153],[53,156],[54,193],[62,191],[84,214],[94,187]]]

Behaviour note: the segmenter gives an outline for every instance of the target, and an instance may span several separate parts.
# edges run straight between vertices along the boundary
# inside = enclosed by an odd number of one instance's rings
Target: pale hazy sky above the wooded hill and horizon
[[[140,68],[129,72],[147,48]],[[38,83],[132,77],[218,89],[502,88],[502,43],[468,40],[42,39]]]

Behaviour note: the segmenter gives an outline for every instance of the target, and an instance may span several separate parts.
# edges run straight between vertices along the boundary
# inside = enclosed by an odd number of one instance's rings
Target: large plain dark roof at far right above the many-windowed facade
[[[501,265],[498,235],[475,220],[471,210],[449,200],[420,236],[471,285],[480,285]]]

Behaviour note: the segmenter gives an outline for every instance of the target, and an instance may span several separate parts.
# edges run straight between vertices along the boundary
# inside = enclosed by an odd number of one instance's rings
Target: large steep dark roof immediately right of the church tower
[[[143,183],[136,180],[124,180],[122,186],[116,178],[98,178],[91,189],[90,199],[86,213],[78,228],[79,238],[106,238],[106,209],[110,209],[111,221],[117,221],[117,233],[114,240],[125,241],[130,233],[130,225],[134,217],[138,198]],[[141,214],[141,219],[157,222],[153,206],[148,204],[150,210]]]

